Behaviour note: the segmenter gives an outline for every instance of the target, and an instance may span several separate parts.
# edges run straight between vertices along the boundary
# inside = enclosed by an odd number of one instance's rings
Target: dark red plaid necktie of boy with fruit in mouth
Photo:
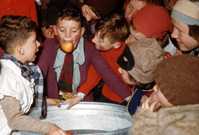
[[[58,88],[63,92],[72,92],[73,83],[73,54],[65,55],[64,65],[58,81]]]

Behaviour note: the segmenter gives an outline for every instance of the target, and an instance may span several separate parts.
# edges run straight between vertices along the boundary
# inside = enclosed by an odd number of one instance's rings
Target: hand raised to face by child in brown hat
[[[149,104],[149,102],[151,101],[151,97],[148,98],[143,104],[142,104],[142,108],[145,109],[145,110],[149,110],[151,112],[154,112],[156,111],[155,107],[156,105],[159,103],[158,100],[152,102],[151,104]]]

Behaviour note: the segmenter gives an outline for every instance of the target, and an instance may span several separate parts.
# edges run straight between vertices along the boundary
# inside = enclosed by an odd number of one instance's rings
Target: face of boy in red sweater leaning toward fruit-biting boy
[[[108,51],[112,48],[117,49],[121,46],[121,42],[111,43],[108,37],[100,38],[100,32],[95,33],[92,42],[95,43],[95,48],[100,51]]]

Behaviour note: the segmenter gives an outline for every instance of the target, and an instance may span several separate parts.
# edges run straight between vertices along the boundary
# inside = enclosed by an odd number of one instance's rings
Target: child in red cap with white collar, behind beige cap
[[[171,17],[168,10],[162,6],[148,4],[143,7],[130,22],[130,31],[127,43],[147,37],[156,38],[167,52],[173,54],[175,51],[175,46],[168,44],[168,33],[172,32]]]

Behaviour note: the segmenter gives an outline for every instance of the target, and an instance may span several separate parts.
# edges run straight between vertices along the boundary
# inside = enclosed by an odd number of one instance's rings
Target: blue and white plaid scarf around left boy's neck
[[[21,69],[22,76],[29,82],[31,82],[31,79],[34,79],[35,97],[38,101],[38,114],[40,118],[44,118],[46,116],[46,103],[43,94],[43,75],[41,69],[34,63],[23,64],[5,52],[2,54],[2,59],[8,59],[14,62],[16,66]]]

